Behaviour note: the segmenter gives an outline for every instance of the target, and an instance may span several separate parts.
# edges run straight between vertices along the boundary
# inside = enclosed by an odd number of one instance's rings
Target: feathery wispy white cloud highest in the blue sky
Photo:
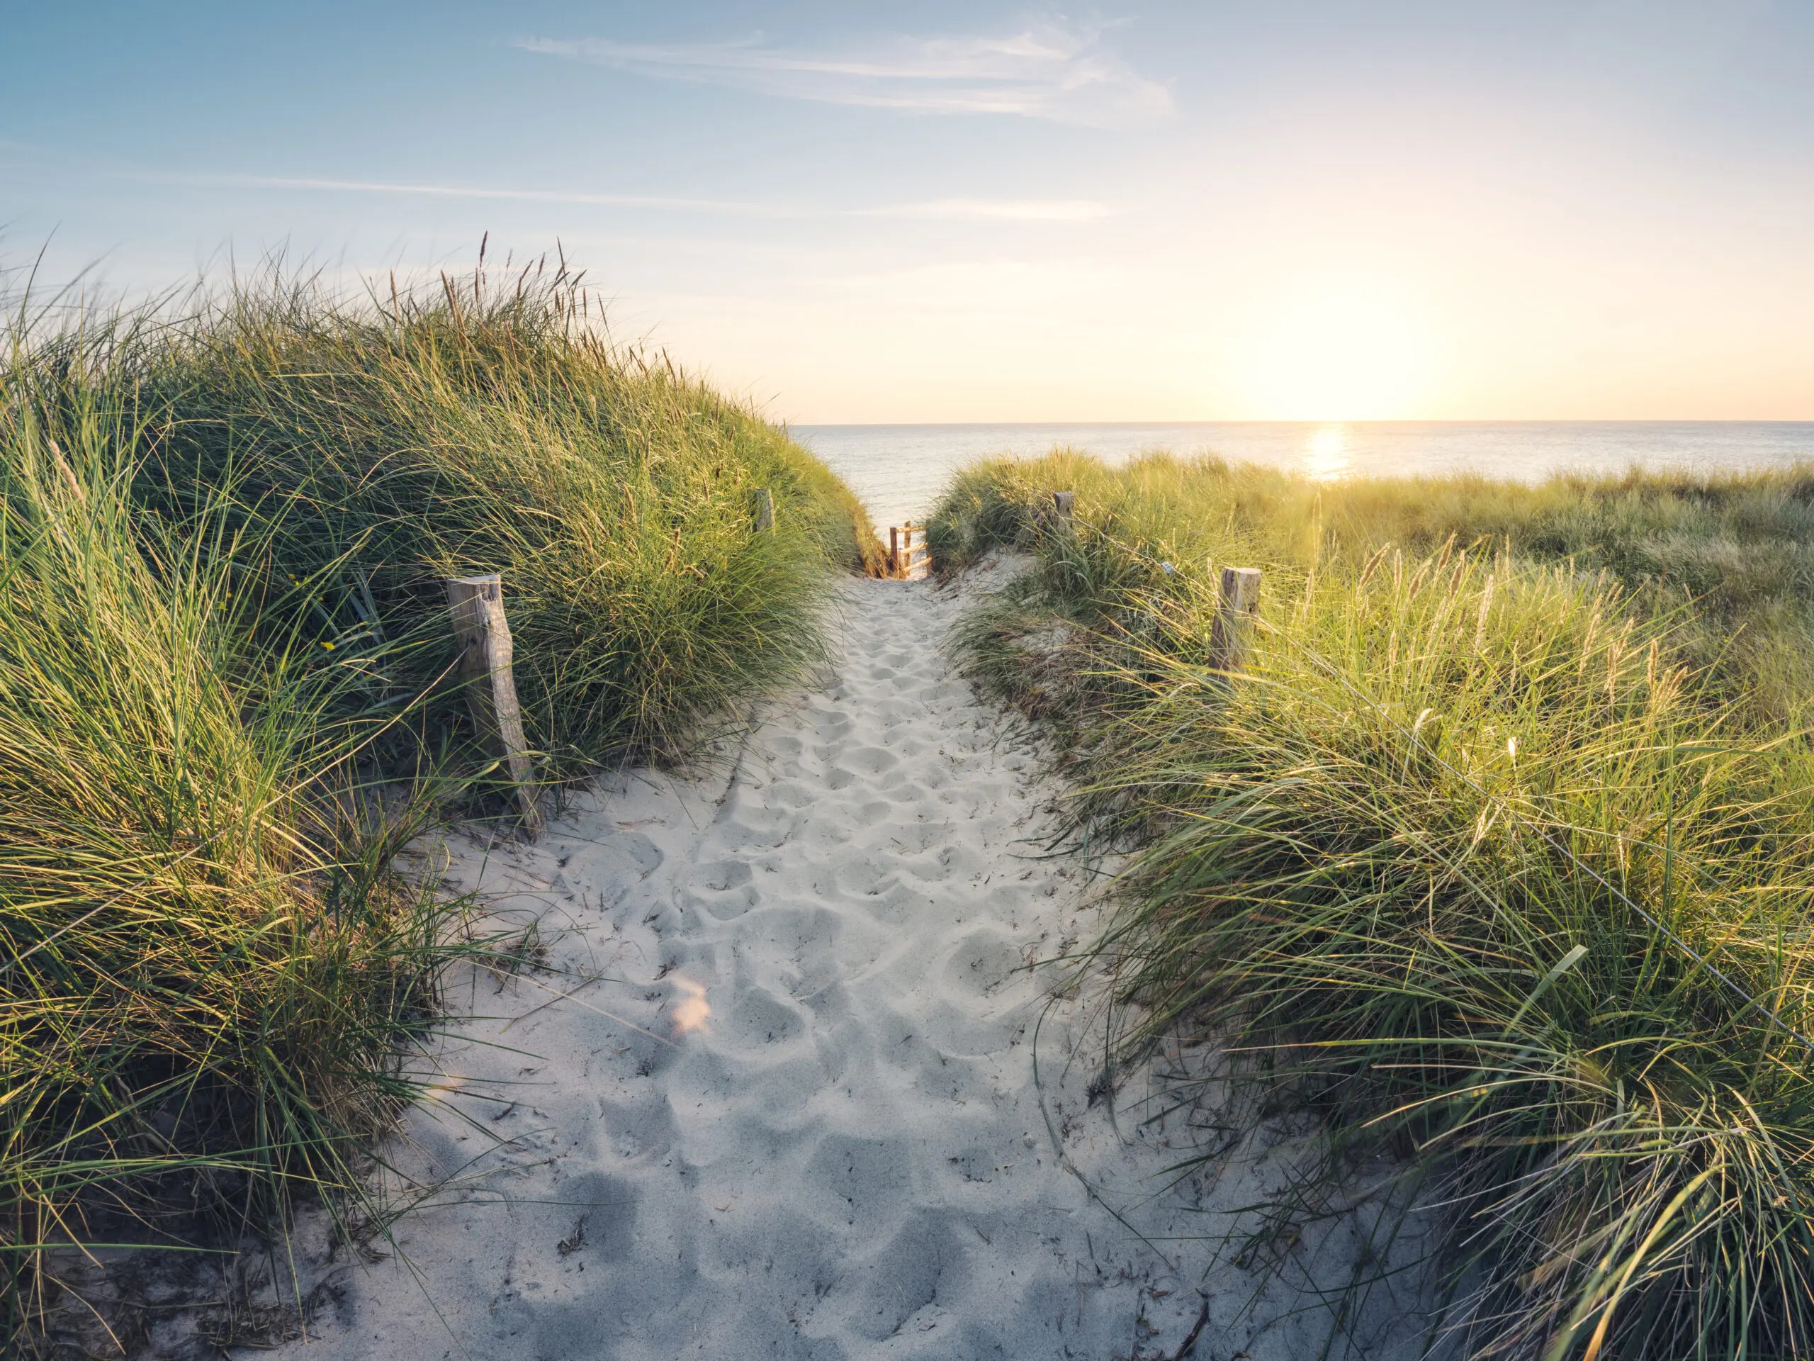
[[[1103,25],[1048,20],[996,38],[892,38],[834,51],[775,47],[762,34],[729,44],[521,38],[515,45],[644,76],[820,103],[1019,114],[1092,127],[1170,118],[1172,91],[1107,51],[1103,33]]]

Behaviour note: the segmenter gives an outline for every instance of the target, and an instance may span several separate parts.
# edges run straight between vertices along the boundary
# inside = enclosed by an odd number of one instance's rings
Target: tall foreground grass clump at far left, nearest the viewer
[[[169,1241],[196,1210],[261,1227],[299,1185],[357,1196],[437,974],[473,949],[463,904],[390,873],[410,822],[348,798],[332,677],[249,646],[236,544],[136,514],[136,436],[105,376],[18,352],[0,376],[9,1354],[71,1245]]]

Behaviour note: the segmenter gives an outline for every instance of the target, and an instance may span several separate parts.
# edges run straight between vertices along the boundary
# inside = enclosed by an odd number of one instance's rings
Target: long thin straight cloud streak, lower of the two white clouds
[[[1097,221],[1116,209],[1088,198],[938,198],[922,203],[876,207],[814,207],[813,203],[755,203],[671,194],[588,194],[564,189],[497,189],[484,185],[424,185],[385,180],[310,180],[274,174],[136,176],[180,178],[236,189],[290,189],[327,194],[415,194],[426,198],[475,198],[517,203],[575,203],[666,212],[702,212],[740,218],[920,218],[929,221]]]

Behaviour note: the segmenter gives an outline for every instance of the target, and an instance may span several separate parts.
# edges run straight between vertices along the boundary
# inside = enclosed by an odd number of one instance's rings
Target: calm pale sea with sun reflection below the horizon
[[[1108,463],[1170,450],[1330,479],[1477,472],[1540,481],[1556,472],[1631,466],[1736,472],[1814,461],[1814,421],[796,425],[791,434],[863,497],[883,532],[925,519],[951,474],[972,459],[1045,454],[1061,445]]]

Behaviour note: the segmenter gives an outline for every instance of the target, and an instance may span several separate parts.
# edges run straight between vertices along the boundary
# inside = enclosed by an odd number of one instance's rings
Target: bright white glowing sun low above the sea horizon
[[[1435,339],[1388,290],[1304,289],[1255,328],[1248,403],[1272,421],[1413,417],[1435,396]]]

